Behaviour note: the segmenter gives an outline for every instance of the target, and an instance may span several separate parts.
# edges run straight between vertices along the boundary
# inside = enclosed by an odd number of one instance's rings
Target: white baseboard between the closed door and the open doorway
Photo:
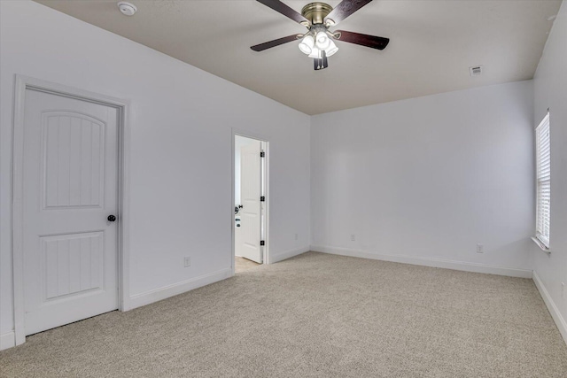
[[[200,288],[201,286],[206,286],[214,282],[225,280],[231,276],[232,276],[232,269],[226,268],[210,274],[204,274],[195,278],[191,278],[190,280],[187,281],[177,282],[172,285],[167,285],[159,289],[153,289],[150,291],[146,291],[145,293],[136,294],[130,297],[129,310],[135,309],[136,307],[141,307],[143,305],[150,305],[162,299],[166,299],[168,297],[174,297],[186,291],[197,289]]]

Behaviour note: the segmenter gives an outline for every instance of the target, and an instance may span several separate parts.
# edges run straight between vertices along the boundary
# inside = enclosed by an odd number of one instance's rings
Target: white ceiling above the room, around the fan
[[[561,4],[374,0],[332,29],[389,37],[388,47],[337,42],[329,68],[314,71],[297,42],[250,50],[307,30],[253,0],[130,0],[138,8],[133,17],[116,1],[36,1],[307,114],[532,79],[553,24],[548,18]],[[284,3],[300,12],[309,1]],[[477,65],[484,73],[470,77]]]

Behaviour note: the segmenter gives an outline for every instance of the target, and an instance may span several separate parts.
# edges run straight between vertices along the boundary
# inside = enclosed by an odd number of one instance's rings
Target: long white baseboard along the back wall
[[[418,266],[433,266],[446,269],[462,270],[464,272],[475,272],[485,274],[507,275],[509,277],[532,278],[532,271],[526,269],[515,269],[502,266],[490,266],[464,261],[446,260],[442,258],[416,258],[405,255],[384,255],[362,250],[351,250],[346,248],[327,247],[312,245],[311,251],[330,253],[333,255],[350,256],[353,258],[372,258],[375,260],[392,261]]]

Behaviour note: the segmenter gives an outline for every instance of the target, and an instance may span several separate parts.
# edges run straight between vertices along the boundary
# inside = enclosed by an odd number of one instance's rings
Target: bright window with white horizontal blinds
[[[549,216],[551,204],[551,156],[549,113],[535,129],[537,169],[536,237],[549,248]]]

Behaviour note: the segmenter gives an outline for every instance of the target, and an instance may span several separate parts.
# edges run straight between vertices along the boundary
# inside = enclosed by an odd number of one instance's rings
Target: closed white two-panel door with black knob
[[[118,308],[117,109],[26,90],[26,335]]]

